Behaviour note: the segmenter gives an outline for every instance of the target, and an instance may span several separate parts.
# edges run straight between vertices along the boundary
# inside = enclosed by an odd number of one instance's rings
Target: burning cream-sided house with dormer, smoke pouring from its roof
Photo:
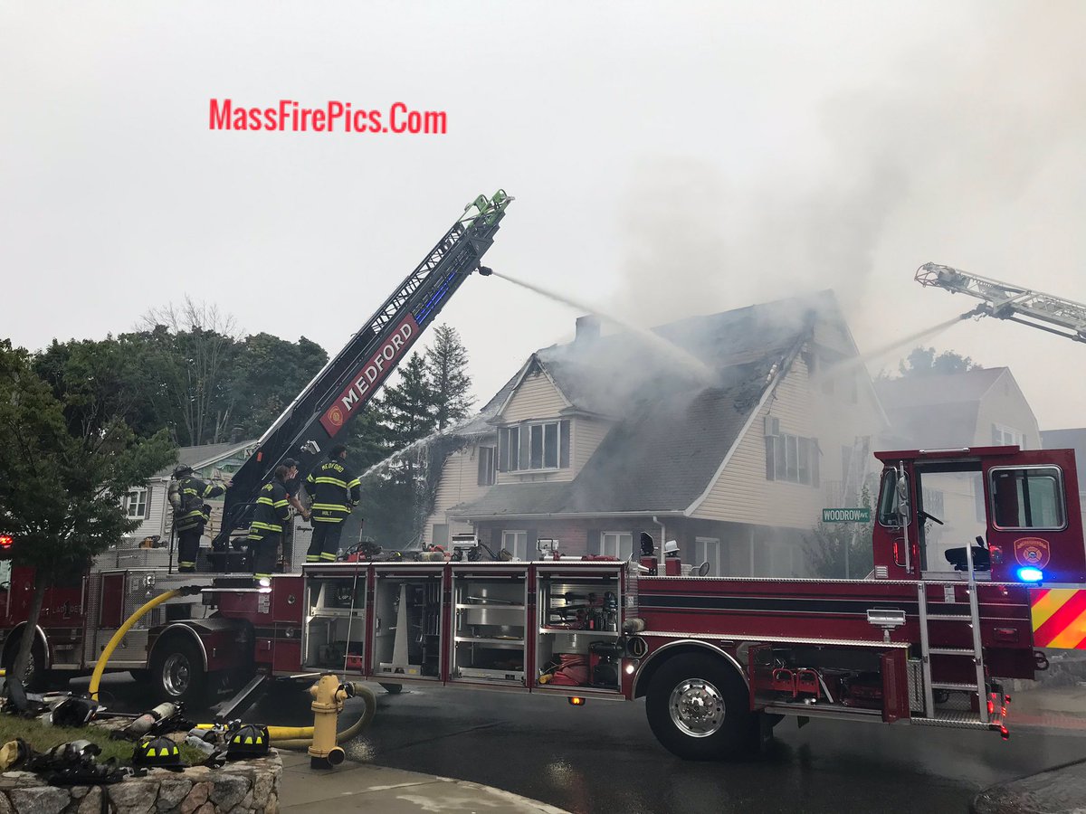
[[[831,293],[532,354],[444,466],[431,542],[629,557],[641,532],[718,575],[807,573],[885,415]],[[845,495],[849,495],[845,497]],[[847,504],[846,504],[847,505]]]

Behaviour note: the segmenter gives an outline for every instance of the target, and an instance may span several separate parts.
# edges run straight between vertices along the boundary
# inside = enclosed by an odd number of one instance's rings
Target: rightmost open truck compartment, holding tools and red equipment
[[[620,572],[539,575],[536,682],[619,691],[623,650]]]

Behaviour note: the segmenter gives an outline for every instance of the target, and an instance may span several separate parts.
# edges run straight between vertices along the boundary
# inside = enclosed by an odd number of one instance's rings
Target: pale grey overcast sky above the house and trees
[[[1086,301],[1084,23],[993,0],[9,0],[0,335],[101,338],[190,294],[336,353],[500,187],[488,265],[647,325],[833,288],[876,347],[974,305],[914,283],[927,260]],[[212,98],[401,101],[449,132],[211,131]],[[577,315],[473,277],[441,319],[481,403]],[[1086,346],[995,320],[931,343],[1010,366],[1041,429],[1086,425]]]

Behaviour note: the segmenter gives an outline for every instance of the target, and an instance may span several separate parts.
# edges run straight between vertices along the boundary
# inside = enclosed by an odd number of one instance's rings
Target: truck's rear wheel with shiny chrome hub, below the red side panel
[[[653,676],[645,714],[656,739],[686,760],[753,753],[757,716],[740,674],[708,653],[683,653]]]

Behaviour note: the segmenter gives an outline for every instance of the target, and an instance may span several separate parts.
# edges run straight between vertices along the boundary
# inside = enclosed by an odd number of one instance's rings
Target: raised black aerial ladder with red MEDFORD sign
[[[468,204],[422,262],[261,436],[226,491],[223,526],[212,542],[215,551],[226,551],[231,533],[248,525],[257,492],[275,468],[288,457],[301,460],[303,471],[310,468],[372,398],[464,280],[476,270],[491,274],[481,260],[510,201],[498,190]]]

